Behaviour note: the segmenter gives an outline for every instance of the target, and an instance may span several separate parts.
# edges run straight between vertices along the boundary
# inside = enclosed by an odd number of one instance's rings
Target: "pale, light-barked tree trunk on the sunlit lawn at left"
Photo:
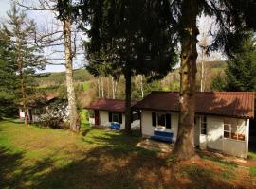
[[[71,21],[64,20],[64,54],[66,68],[67,100],[69,107],[70,129],[78,132],[80,130],[80,120],[77,112],[76,94],[73,85],[73,57],[71,46]]]

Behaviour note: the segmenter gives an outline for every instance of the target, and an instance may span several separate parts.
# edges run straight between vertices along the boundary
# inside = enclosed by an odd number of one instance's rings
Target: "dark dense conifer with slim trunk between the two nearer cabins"
[[[168,4],[104,0],[92,1],[90,6],[88,60],[92,64],[106,62],[110,70],[120,69],[124,75],[125,130],[130,132],[131,77],[137,74],[163,77],[176,63],[175,36],[171,33],[169,15],[163,13]],[[81,10],[84,18],[88,12],[83,7]]]

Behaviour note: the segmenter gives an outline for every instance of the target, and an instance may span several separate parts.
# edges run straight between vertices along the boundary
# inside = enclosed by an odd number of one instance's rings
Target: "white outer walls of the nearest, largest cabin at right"
[[[157,112],[157,111],[154,111]],[[172,128],[171,129],[158,129],[152,125],[152,111],[141,112],[141,127],[144,137],[150,137],[154,135],[155,130],[162,130],[167,132],[173,132],[173,141],[176,141],[178,131],[178,113],[171,112]],[[249,120],[238,119],[221,116],[207,115],[207,134],[201,134],[201,116],[195,118],[194,127],[194,144],[201,149],[214,149],[223,153],[238,156],[242,158],[247,157],[248,148],[248,133],[249,133]],[[239,132],[245,134],[245,140],[235,140],[231,138],[224,138],[224,123],[237,124]]]

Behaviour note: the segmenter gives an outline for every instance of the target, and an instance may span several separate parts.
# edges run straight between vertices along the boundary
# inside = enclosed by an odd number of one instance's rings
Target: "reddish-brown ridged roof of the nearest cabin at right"
[[[197,92],[195,112],[231,117],[254,117],[254,92]],[[177,92],[152,92],[137,102],[141,110],[179,111]]]

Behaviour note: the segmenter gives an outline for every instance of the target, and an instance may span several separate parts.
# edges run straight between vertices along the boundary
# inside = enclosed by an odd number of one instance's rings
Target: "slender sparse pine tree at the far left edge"
[[[8,12],[8,23],[4,25],[5,33],[13,46],[14,64],[19,78],[19,93],[17,97],[25,111],[27,124],[28,94],[32,93],[32,76],[37,69],[43,69],[45,60],[41,49],[34,43],[35,23],[27,18],[24,11],[13,4]]]

